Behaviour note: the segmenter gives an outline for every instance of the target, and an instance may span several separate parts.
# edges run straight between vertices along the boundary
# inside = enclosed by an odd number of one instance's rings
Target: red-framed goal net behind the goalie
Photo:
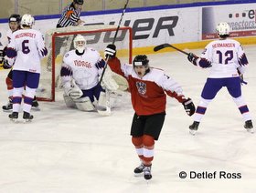
[[[115,25],[83,25],[69,26],[48,30],[45,36],[48,56],[41,61],[40,83],[37,89],[37,99],[55,101],[55,92],[59,88],[60,68],[62,58],[69,50],[74,49],[73,39],[82,35],[86,46],[100,52],[103,57],[105,47],[112,44],[117,26]],[[115,39],[117,56],[123,63],[132,62],[132,28],[121,26]]]

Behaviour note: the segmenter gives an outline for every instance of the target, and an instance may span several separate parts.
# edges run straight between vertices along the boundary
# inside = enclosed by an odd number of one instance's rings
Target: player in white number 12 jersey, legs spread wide
[[[212,41],[206,46],[200,57],[189,53],[187,59],[195,66],[210,68],[207,82],[203,88],[201,99],[197,106],[194,122],[189,131],[195,135],[201,118],[205,115],[208,104],[217,95],[219,90],[226,86],[229,95],[240,110],[247,131],[253,133],[251,115],[246,102],[241,96],[241,79],[248,66],[247,57],[236,40],[229,39],[229,24],[221,22],[217,25],[219,40]]]

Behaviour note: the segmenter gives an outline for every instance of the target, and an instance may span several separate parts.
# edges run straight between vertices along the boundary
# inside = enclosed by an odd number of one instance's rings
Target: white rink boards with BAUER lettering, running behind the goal
[[[194,7],[162,6],[159,8],[130,8],[123,15],[121,25],[133,28],[133,47],[156,46],[163,43],[179,44],[213,39],[215,27],[221,21],[227,21],[232,36],[254,36],[256,34],[256,3],[240,5],[212,5]],[[116,11],[84,12],[81,19],[85,25],[118,25],[122,13]],[[46,35],[56,28],[59,15],[36,16],[35,29]],[[7,44],[6,19],[0,20],[0,49]],[[104,33],[101,39],[104,39]],[[112,32],[114,36],[114,32]],[[117,40],[118,41],[118,40]],[[104,42],[105,44],[112,41]],[[95,42],[94,44],[101,44]]]

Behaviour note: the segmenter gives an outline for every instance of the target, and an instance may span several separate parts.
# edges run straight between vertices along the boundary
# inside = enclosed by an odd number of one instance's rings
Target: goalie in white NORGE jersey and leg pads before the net
[[[84,36],[76,36],[74,50],[63,57],[60,70],[64,87],[64,100],[67,107],[75,107],[81,111],[97,110],[101,115],[110,114],[108,90],[116,90],[118,85],[112,79],[109,67],[99,84],[99,76],[106,65],[100,53],[86,46]],[[106,89],[105,89],[106,88]]]

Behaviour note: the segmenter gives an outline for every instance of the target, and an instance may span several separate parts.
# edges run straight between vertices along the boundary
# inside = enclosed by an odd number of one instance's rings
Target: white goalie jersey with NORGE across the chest
[[[65,85],[73,78],[80,89],[88,90],[98,84],[103,66],[105,62],[98,51],[86,47],[84,53],[78,55],[76,50],[71,50],[63,57],[62,83]]]

